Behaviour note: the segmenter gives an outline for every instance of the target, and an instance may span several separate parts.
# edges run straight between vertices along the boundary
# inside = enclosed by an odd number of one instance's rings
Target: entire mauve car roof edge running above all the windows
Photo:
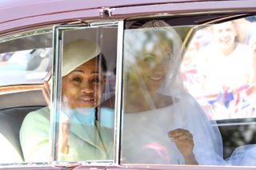
[[[194,4],[190,4],[193,2]],[[166,6],[166,3],[170,3]],[[101,18],[102,7],[113,10],[113,18],[159,12],[198,12],[200,10],[251,9],[254,0],[1,0],[0,34],[31,26]]]

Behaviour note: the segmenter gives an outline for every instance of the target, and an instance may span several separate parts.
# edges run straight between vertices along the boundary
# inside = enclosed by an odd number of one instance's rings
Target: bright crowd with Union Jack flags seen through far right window
[[[254,28],[244,18],[214,24],[199,30],[186,51],[186,87],[214,119],[254,117]]]

